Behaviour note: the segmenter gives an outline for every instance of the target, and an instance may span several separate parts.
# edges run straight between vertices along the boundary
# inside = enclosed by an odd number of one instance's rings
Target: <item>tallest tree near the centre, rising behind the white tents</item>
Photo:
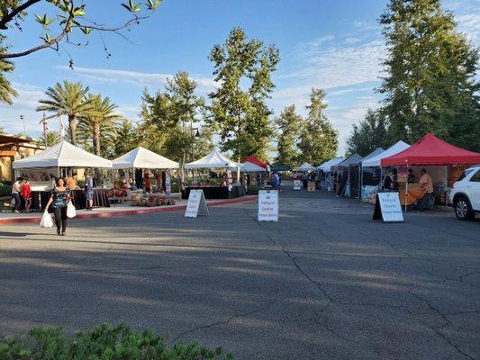
[[[222,150],[237,158],[255,154],[267,159],[274,135],[267,98],[274,88],[271,74],[280,60],[278,49],[247,39],[241,28],[233,29],[224,45],[210,53],[218,88],[209,94],[209,123],[220,135]]]

